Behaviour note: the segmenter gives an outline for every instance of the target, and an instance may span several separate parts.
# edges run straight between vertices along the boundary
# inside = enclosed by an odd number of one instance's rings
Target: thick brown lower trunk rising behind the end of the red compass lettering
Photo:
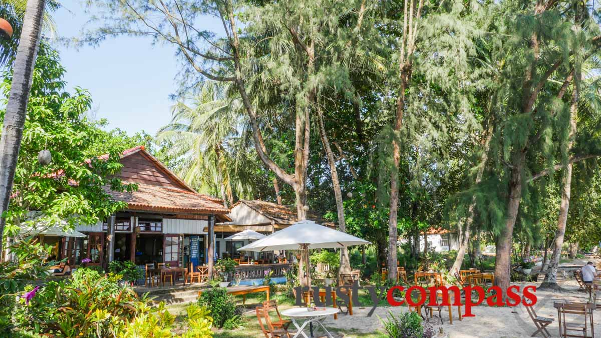
[[[513,227],[517,220],[517,212],[520,209],[520,200],[522,199],[522,166],[525,153],[520,152],[515,157],[516,161],[513,161],[513,168],[511,169],[505,227],[496,238],[495,285],[501,287],[503,297],[505,297],[505,290],[507,290],[510,283],[511,239]]]

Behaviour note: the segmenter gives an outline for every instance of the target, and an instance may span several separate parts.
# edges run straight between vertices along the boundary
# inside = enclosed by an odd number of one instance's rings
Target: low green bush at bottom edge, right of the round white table
[[[404,312],[398,317],[388,312],[386,321],[382,320],[384,330],[391,338],[432,338],[434,331],[432,325],[423,325],[423,319],[416,312]]]

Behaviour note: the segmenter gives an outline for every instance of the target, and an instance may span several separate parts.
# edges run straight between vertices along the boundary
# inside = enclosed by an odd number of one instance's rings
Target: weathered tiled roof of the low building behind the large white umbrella
[[[276,203],[266,201],[251,201],[251,200],[240,200],[232,206],[235,207],[239,203],[244,203],[246,206],[255,210],[264,217],[275,221],[277,224],[292,224],[297,221],[296,206],[279,205]],[[311,210],[307,211],[307,220],[314,221],[324,226],[333,227],[335,224],[331,221],[327,221],[321,217],[321,215]]]

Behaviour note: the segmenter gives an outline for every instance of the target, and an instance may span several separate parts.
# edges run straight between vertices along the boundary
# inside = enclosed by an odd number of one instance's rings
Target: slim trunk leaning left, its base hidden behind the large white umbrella
[[[340,182],[338,181],[338,171],[336,170],[336,162],[334,159],[334,153],[332,153],[332,148],[330,147],[330,143],[328,140],[328,135],[326,134],[326,128],[323,124],[323,114],[322,109],[319,106],[319,102],[317,102],[317,128],[319,129],[319,136],[322,139],[323,150],[326,152],[326,157],[328,158],[328,165],[330,167],[330,174],[332,176],[332,186],[334,186],[334,198],[336,200],[336,210],[338,213],[338,229],[341,232],[346,232],[346,224],[344,223],[344,204],[342,202],[342,189],[340,188]],[[349,260],[349,250],[347,248],[340,249],[340,273],[341,274],[350,274],[350,260]]]

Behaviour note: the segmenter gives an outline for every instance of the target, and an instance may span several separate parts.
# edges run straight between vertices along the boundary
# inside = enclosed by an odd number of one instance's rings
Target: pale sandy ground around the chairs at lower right
[[[573,270],[573,266],[584,264],[581,260],[572,260],[567,263],[570,266],[570,270]],[[527,285],[538,286],[540,283],[513,283],[520,285],[521,287]],[[579,301],[585,302],[588,300],[588,293],[578,292],[578,283],[573,278],[560,282],[567,292],[551,292],[547,290],[537,290],[535,293],[538,301],[534,309],[538,316],[545,316],[555,318],[555,321],[549,325],[549,333],[553,337],[559,337],[559,326],[557,322],[557,309],[553,307],[555,300],[564,301]],[[376,309],[373,316],[368,317],[367,313],[370,308],[359,308],[355,307],[353,316],[340,315],[338,320],[328,319],[325,321],[325,325],[328,328],[341,329],[345,331],[357,332],[357,333],[370,333],[374,331],[382,330],[382,322],[378,318],[386,318],[389,311],[392,313],[400,313],[406,311],[406,307],[380,307]],[[442,319],[444,324],[440,324],[440,319],[431,319],[432,324],[435,327],[435,331],[439,332],[442,328],[441,337],[450,338],[472,338],[472,337],[490,337],[490,338],[504,338],[504,337],[529,337],[536,328],[534,323],[528,316],[525,308],[520,305],[517,307],[489,307],[489,306],[477,306],[472,308],[472,312],[475,317],[464,318],[463,321],[459,321],[457,318],[457,308],[453,307],[453,325],[449,324],[448,309],[444,309],[442,312]],[[574,322],[581,322],[580,318],[573,318]],[[593,313],[594,331],[597,335],[601,334],[601,312],[595,311]],[[589,331],[590,332],[590,331]],[[589,333],[590,335],[590,333]],[[352,337],[353,334],[346,334],[346,337]],[[542,337],[540,334],[538,337]]]

